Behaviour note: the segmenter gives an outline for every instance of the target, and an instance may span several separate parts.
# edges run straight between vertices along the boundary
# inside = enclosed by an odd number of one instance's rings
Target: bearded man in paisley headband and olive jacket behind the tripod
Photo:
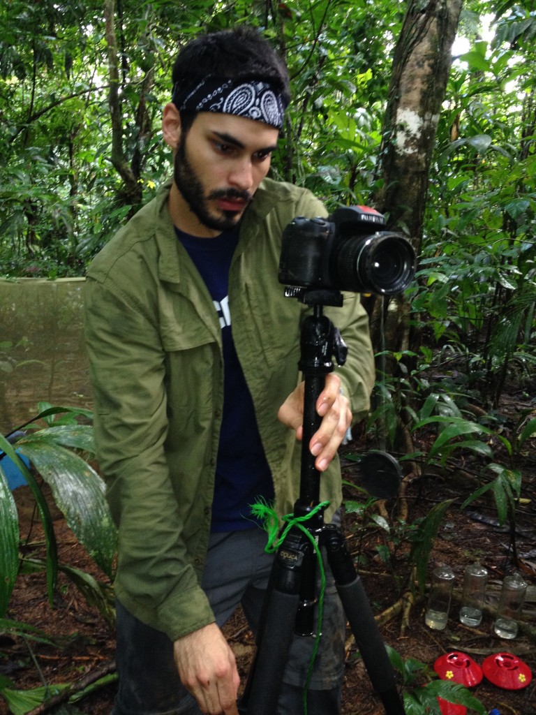
[[[257,631],[273,560],[251,505],[262,498],[283,515],[299,487],[299,330],[310,309],[277,280],[282,231],[327,211],[267,178],[289,80],[262,36],[200,36],[172,80],[162,119],[172,179],[86,281],[97,457],[119,529],[114,715],[237,715],[221,627],[242,604]],[[342,503],[337,449],[374,381],[359,296],[345,294],[333,315],[349,358],[327,375],[309,443],[327,522]],[[344,616],[332,580],[323,622],[310,715],[340,711]],[[279,715],[302,711],[311,652],[294,638]]]

